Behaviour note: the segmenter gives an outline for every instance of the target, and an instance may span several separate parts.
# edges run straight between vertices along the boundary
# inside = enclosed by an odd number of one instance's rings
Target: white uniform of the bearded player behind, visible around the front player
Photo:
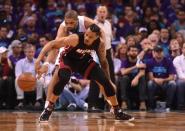
[[[78,32],[85,32],[86,31],[86,28],[85,28],[85,22],[84,22],[84,16],[78,16]],[[63,21],[61,23],[63,26],[65,26],[65,21]],[[70,32],[70,34],[72,34],[72,32]],[[59,49],[59,53],[58,53],[58,56],[57,56],[57,59],[55,61],[55,65],[59,65],[59,62],[60,62],[60,54],[61,52],[64,50],[64,47],[60,48]]]

